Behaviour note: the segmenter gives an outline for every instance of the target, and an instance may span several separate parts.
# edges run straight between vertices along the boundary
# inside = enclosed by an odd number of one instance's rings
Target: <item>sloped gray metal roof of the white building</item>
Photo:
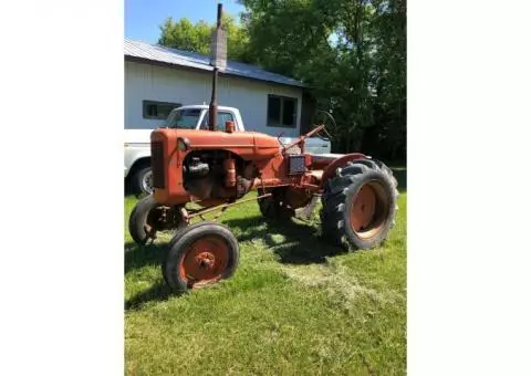
[[[124,55],[173,65],[187,66],[202,71],[212,71],[210,58],[207,55],[127,39],[124,43]],[[304,87],[304,84],[294,79],[264,71],[256,65],[243,64],[231,60],[227,61],[227,67],[223,73],[247,79],[269,81],[290,86]]]

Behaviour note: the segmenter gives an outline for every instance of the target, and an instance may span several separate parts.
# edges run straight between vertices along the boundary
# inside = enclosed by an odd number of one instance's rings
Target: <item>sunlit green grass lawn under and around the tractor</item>
[[[388,241],[356,252],[322,240],[319,217],[280,226],[254,201],[230,208],[236,274],[183,296],[160,274],[165,242],[133,244],[126,197],[125,373],[405,375],[406,197]]]

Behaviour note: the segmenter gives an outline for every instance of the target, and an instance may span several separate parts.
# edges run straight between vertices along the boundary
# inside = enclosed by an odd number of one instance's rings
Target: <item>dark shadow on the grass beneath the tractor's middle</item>
[[[323,239],[319,229],[299,219],[270,220],[261,216],[225,222],[237,234],[238,242],[260,242],[272,250],[281,263],[311,264],[326,262],[327,257],[346,253]]]

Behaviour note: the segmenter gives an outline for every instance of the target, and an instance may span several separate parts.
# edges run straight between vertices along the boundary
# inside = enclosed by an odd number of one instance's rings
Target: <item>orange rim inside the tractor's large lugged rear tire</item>
[[[357,237],[367,239],[378,233],[389,212],[389,199],[379,181],[363,185],[352,200],[351,228]]]

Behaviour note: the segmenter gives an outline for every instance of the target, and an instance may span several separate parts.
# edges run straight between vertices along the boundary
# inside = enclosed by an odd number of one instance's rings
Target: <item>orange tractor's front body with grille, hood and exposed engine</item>
[[[278,185],[284,165],[278,139],[261,133],[170,128],[152,133],[154,197],[166,206],[239,199],[259,175],[266,185]]]

